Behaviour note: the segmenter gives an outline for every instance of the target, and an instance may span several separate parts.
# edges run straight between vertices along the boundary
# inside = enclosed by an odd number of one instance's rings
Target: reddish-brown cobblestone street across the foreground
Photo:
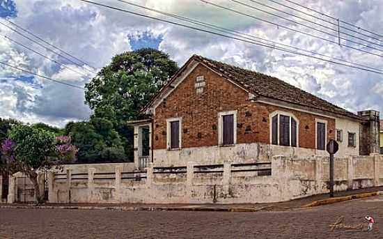
[[[367,223],[346,231],[330,224]],[[0,238],[383,238],[383,196],[279,212],[0,209]]]

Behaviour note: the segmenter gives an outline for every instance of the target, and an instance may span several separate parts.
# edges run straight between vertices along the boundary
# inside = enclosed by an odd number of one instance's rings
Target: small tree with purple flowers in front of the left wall
[[[38,185],[38,171],[59,167],[76,160],[77,148],[69,137],[55,137],[31,125],[17,124],[8,132],[8,139],[1,142],[1,170],[14,174],[17,171],[29,176],[35,189],[36,202],[43,201]]]

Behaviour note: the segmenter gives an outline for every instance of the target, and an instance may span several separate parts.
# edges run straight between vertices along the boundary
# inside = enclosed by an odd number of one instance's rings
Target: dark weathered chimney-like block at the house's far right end
[[[379,153],[379,111],[359,111],[358,116],[361,116],[361,118],[363,119],[360,130],[360,155],[370,155],[370,153]]]

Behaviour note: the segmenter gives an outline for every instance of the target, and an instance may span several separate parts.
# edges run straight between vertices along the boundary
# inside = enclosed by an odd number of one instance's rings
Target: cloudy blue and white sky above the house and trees
[[[93,1],[159,17],[164,20],[180,22],[180,20],[129,6],[116,0]],[[291,29],[297,29],[338,42],[338,38],[318,33],[318,31],[297,25],[288,20],[299,21],[313,26],[315,29],[320,29],[319,26],[309,22],[304,22],[283,13],[277,13],[275,10],[267,9],[265,6],[260,6],[251,0],[236,0],[236,2],[230,0],[207,1],[237,10],[248,16],[220,9],[199,0],[139,0],[130,2],[167,13],[190,17],[226,29],[233,29],[251,36],[293,45],[311,52],[319,52],[346,61],[383,69],[382,56],[366,54],[344,46],[341,47],[326,40],[306,36],[281,27],[288,26]],[[309,18],[302,13],[292,12],[291,9],[278,6],[271,0],[256,1],[288,13],[294,13],[300,17]],[[383,1],[293,1],[383,35],[381,27],[383,22],[383,15],[381,14]],[[286,6],[304,10],[286,0],[279,0],[279,2],[286,4]],[[283,20],[274,15],[267,15],[240,3],[269,10],[274,14],[286,17],[288,20]],[[304,10],[304,12],[312,13],[308,10]],[[249,16],[275,22],[278,26],[260,22]],[[313,18],[309,19],[313,22],[325,24],[325,22]],[[329,18],[326,19],[329,20]],[[82,87],[89,82],[95,72],[107,65],[114,55],[141,47],[153,47],[169,54],[171,59],[180,66],[192,54],[200,54],[210,59],[224,61],[242,68],[279,77],[352,112],[366,109],[383,112],[383,75],[185,29],[181,26],[101,8],[79,0],[0,0],[0,22],[15,27],[6,20],[22,26],[52,45],[76,56],[77,59],[81,60],[81,63],[74,59],[68,61],[68,57],[63,57],[63,55],[57,56],[52,51],[40,47],[0,24],[1,62],[76,86]],[[22,32],[20,29],[18,31]],[[329,30],[323,29],[323,31]],[[332,33],[334,35],[334,32]],[[335,34],[337,33],[335,32]],[[4,38],[4,36],[8,38]],[[33,38],[28,34],[26,36]],[[366,38],[358,34],[355,36]],[[13,41],[9,40],[9,38]],[[344,38],[349,37],[344,36]],[[375,36],[375,38],[379,37]],[[33,39],[36,40],[36,38]],[[360,42],[360,40],[354,40]],[[50,59],[61,63],[61,65],[49,61],[21,45],[17,45],[15,41],[48,56]],[[370,41],[373,40],[370,39]],[[383,54],[378,50],[355,45],[345,40],[342,40],[341,43],[347,43],[375,54]],[[375,45],[366,42],[364,44],[383,49],[383,43],[382,47],[378,46],[380,43],[382,42],[375,41]],[[82,121],[89,118],[91,110],[84,104],[84,101],[84,91],[78,88],[50,82],[40,77],[33,77],[26,72],[0,65],[1,118],[16,118],[29,123],[44,122],[63,127],[69,121]]]

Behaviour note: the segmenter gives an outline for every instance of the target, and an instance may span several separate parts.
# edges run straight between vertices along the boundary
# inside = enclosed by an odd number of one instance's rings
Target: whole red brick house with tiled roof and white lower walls
[[[137,167],[359,155],[361,116],[275,77],[192,56],[134,125]],[[145,137],[148,132],[150,137]]]

